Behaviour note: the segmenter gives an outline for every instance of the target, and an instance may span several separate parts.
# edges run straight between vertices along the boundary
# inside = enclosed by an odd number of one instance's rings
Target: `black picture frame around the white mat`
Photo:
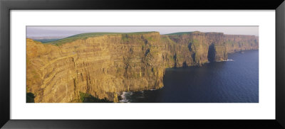
[[[276,11],[275,120],[11,120],[10,11],[22,9],[271,9]],[[0,0],[2,128],[285,128],[285,2],[257,0]],[[209,107],[210,108],[210,107]]]

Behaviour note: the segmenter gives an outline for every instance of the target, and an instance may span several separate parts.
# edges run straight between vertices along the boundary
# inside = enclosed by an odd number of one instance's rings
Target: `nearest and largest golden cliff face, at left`
[[[71,102],[80,92],[118,101],[119,91],[158,89],[160,34],[103,35],[44,45],[27,39],[27,91],[35,102]]]

